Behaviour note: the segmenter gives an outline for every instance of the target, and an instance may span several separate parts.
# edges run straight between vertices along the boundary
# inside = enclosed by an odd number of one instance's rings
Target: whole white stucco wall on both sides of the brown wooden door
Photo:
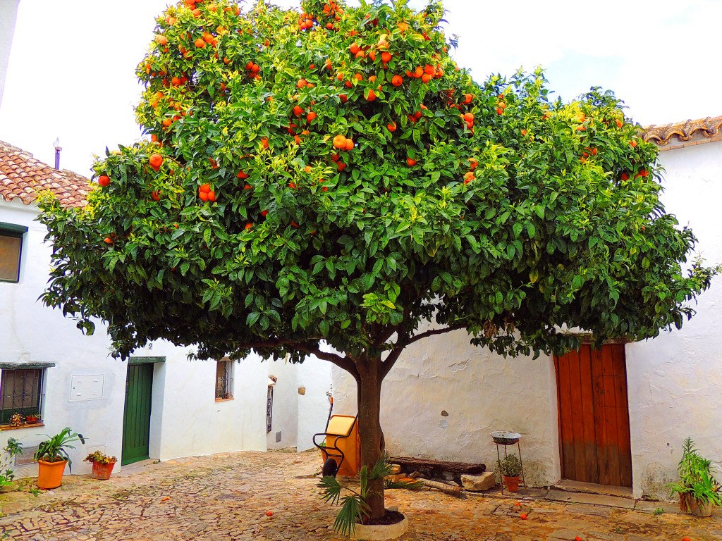
[[[697,252],[709,263],[721,263],[722,142],[665,151],[660,159],[667,210],[681,225],[692,226],[700,241]],[[697,312],[681,331],[625,347],[635,497],[669,495],[664,484],[676,475],[686,436],[720,465],[721,278],[700,297]],[[333,384],[334,412],[355,414],[354,380],[334,367]],[[490,431],[518,431],[527,481],[550,485],[560,479],[556,378],[549,356],[503,359],[469,346],[463,331],[422,340],[386,377],[381,424],[391,455],[484,462],[488,468],[496,460]]]

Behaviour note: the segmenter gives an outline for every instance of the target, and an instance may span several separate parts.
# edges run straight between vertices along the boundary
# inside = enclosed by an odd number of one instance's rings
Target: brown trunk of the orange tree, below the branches
[[[380,359],[369,359],[367,366],[359,370],[358,382],[358,423],[361,440],[360,466],[366,466],[370,472],[384,451],[383,431],[381,431],[381,383],[379,374]],[[386,514],[383,506],[383,479],[369,480],[370,506],[368,520],[380,519]]]

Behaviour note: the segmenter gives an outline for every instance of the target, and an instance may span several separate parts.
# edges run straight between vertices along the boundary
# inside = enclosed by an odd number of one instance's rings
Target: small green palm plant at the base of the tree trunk
[[[371,471],[368,471],[366,466],[362,466],[358,474],[359,490],[355,491],[352,488],[346,487],[346,490],[351,494],[342,497],[342,485],[336,480],[335,477],[327,475],[318,482],[318,486],[323,490],[321,491],[321,498],[326,503],[332,505],[341,504],[339,514],[336,515],[334,521],[334,531],[345,537],[356,537],[356,525],[363,524],[364,520],[368,518],[370,506],[368,504],[368,498],[370,496],[368,490],[368,483],[370,480],[385,479],[386,476],[391,475],[391,465],[388,464],[386,455],[382,455],[381,458],[376,462]],[[388,479],[384,480],[384,488],[420,488],[421,484],[417,481],[391,481]]]

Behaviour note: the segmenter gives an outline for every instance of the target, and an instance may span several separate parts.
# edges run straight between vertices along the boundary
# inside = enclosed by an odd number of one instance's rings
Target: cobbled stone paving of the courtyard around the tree
[[[17,541],[331,541],[336,509],[316,487],[316,452],[237,452],[71,475],[54,490],[0,494],[0,539]],[[518,505],[516,505],[518,503]],[[402,541],[722,540],[722,515],[653,514],[498,492],[464,498],[386,491],[411,531]],[[271,511],[272,516],[266,516]],[[521,519],[521,514],[527,519]]]

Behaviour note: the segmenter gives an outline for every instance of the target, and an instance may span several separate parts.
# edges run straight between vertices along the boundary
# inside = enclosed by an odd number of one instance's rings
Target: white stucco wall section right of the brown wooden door
[[[666,168],[662,201],[689,225],[708,263],[722,263],[719,201],[722,141],[660,153]],[[697,443],[722,470],[722,279],[700,296],[682,330],[627,345],[627,381],[635,496],[669,496],[682,440]]]

